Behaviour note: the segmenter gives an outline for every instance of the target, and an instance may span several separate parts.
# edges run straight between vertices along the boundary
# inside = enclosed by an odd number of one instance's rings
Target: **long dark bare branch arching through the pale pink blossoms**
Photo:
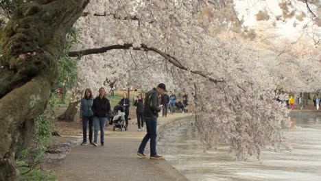
[[[132,44],[124,44],[124,45],[110,45],[108,47],[102,47],[102,48],[97,48],[97,49],[86,49],[86,50],[82,50],[82,51],[72,51],[68,53],[68,56],[70,57],[75,57],[75,56],[86,56],[86,55],[90,55],[90,54],[97,54],[97,53],[106,53],[109,50],[112,49],[133,49],[133,50],[137,50],[137,51],[154,51],[155,53],[158,53],[160,56],[163,56],[163,58],[165,58],[168,62],[171,62],[171,64],[174,64],[175,67],[177,67],[178,69],[182,69],[185,71],[189,71],[191,73],[200,75],[208,80],[210,80],[211,82],[223,82],[223,80],[215,80],[212,77],[210,77],[209,75],[207,75],[206,73],[202,72],[202,71],[193,71],[191,69],[189,69],[188,67],[185,67],[184,65],[182,65],[180,63],[180,61],[178,61],[177,58],[175,58],[174,56],[171,56],[163,51],[160,51],[159,49],[156,49],[154,47],[147,47],[147,45],[141,44],[141,47],[133,47]]]

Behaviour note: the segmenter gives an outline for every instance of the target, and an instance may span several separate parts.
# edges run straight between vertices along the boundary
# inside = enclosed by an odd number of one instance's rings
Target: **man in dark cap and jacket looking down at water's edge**
[[[137,152],[138,156],[146,158],[144,154],[144,149],[148,140],[150,140],[150,159],[162,159],[163,156],[156,153],[156,138],[157,138],[157,117],[158,112],[162,110],[163,106],[158,104],[158,95],[163,94],[166,91],[165,84],[158,84],[156,88],[150,90],[145,97],[144,104],[144,118],[147,128],[147,134],[141,141],[139,146],[139,151]]]

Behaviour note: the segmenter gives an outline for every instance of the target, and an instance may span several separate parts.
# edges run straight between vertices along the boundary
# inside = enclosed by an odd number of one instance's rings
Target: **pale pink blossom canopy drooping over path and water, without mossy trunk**
[[[141,84],[150,85],[154,79],[150,78],[149,72],[160,71],[163,73],[160,75],[167,78],[174,74],[171,82],[195,92],[195,110],[200,114],[197,125],[200,135],[210,146],[224,141],[231,145],[238,158],[246,159],[253,154],[259,158],[265,146],[272,144],[277,149],[285,140],[281,128],[288,125],[288,112],[284,106],[273,101],[278,96],[275,90],[301,91],[318,87],[315,82],[318,78],[306,81],[318,73],[305,72],[311,64],[320,67],[320,62],[312,61],[303,53],[298,58],[293,51],[278,56],[281,51],[287,50],[283,47],[277,49],[276,42],[260,48],[253,46],[253,43],[259,46],[255,42],[256,33],[238,24],[240,21],[230,5],[233,2],[219,6],[211,1],[198,4],[194,1],[95,1],[88,5],[86,14],[77,23],[81,27],[90,25],[82,40],[86,43],[76,47],[80,51],[69,55],[86,57],[104,53],[105,61],[110,64],[127,57],[125,64],[130,65],[128,70],[132,73],[126,73],[129,76],[141,73],[135,69],[137,64],[151,62],[134,51],[154,53],[151,57],[165,58],[170,68],[164,66],[165,62],[154,63],[156,69],[150,67],[141,76],[134,77],[143,80]],[[160,7],[166,11],[158,11]],[[219,10],[230,13],[216,15]],[[95,28],[99,25],[108,27]],[[215,28],[217,25],[222,26],[223,30]],[[241,40],[239,36],[224,39],[222,31],[226,30],[237,32],[252,41]],[[108,41],[97,38],[101,34],[104,38],[108,37]],[[112,49],[117,49],[115,59],[107,58]],[[161,58],[158,62],[162,62]],[[120,71],[126,67],[125,64],[122,64]],[[300,65],[305,65],[305,68]],[[156,76],[155,80],[158,78]],[[132,79],[127,81],[130,84],[135,82]],[[284,145],[289,148],[289,145]]]

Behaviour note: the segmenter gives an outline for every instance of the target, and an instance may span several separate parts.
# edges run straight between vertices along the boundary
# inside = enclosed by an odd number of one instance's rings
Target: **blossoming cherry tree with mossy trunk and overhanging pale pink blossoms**
[[[25,1],[1,32],[2,180],[17,180],[14,157],[47,104],[65,35],[87,3]],[[196,125],[209,146],[228,143],[241,159],[259,158],[268,145],[288,147],[281,130],[289,123],[288,110],[274,98],[278,86],[289,85],[278,79],[287,66],[298,64],[296,77],[285,82],[293,81],[294,88],[296,83],[298,88],[318,86],[312,77],[320,61],[309,59],[316,68],[306,73],[300,64],[308,56],[277,57],[274,45],[255,47],[256,32],[242,25],[233,5],[232,0],[91,1],[75,24],[82,43],[68,53],[83,56],[76,90],[113,81],[146,89],[158,82],[180,86],[194,95]],[[226,38],[226,31],[253,42]]]

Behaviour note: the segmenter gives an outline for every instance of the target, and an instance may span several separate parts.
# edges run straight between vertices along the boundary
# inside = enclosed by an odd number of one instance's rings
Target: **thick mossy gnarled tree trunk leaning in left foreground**
[[[0,32],[0,180],[19,180],[15,158],[45,110],[67,32],[88,0],[27,0]]]

